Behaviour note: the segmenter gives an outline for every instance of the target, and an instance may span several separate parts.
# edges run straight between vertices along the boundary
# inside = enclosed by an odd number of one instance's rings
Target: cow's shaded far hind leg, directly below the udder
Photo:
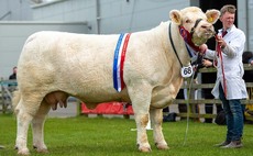
[[[44,123],[50,109],[51,105],[43,101],[36,115],[32,120],[33,147],[36,148],[38,153],[47,153],[47,147],[44,143]]]

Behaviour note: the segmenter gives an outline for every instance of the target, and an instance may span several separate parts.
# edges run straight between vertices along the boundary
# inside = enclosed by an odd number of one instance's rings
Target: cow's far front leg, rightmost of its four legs
[[[163,109],[151,109],[150,113],[155,145],[158,149],[167,149],[168,146],[162,132]]]

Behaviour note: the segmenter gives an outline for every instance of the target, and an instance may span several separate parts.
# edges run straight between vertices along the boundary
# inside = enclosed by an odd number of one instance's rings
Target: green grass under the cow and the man
[[[45,123],[45,143],[48,154],[37,154],[32,149],[32,135],[29,132],[29,148],[32,156],[251,156],[253,148],[253,125],[245,124],[243,148],[221,149],[213,144],[222,142],[226,126],[190,122],[185,145],[186,121],[163,124],[168,151],[158,151],[154,146],[152,131],[147,131],[152,152],[140,153],[136,148],[136,132],[133,120],[107,118],[47,119]],[[0,156],[16,155],[15,118],[0,114]]]

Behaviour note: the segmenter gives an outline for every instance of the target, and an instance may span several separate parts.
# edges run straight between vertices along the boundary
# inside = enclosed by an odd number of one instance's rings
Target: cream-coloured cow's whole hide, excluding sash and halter
[[[31,35],[18,63],[19,90],[13,99],[18,118],[18,154],[30,154],[26,147],[30,123],[34,147],[37,152],[47,152],[43,132],[45,116],[51,108],[57,108],[57,103],[66,107],[68,96],[94,107],[106,101],[131,102],[139,151],[151,151],[145,129],[148,115],[156,147],[167,149],[162,132],[162,109],[172,103],[183,82],[180,65],[168,38],[168,25],[172,23],[170,33],[180,62],[187,65],[190,58],[178,25],[190,31],[196,20],[202,19],[194,32],[195,44],[201,45],[213,35],[212,24],[219,18],[219,11],[209,10],[205,14],[200,9],[190,7],[172,10],[169,16],[172,22],[132,33],[124,63],[127,88],[121,92],[117,92],[112,83],[118,34],[38,32]]]

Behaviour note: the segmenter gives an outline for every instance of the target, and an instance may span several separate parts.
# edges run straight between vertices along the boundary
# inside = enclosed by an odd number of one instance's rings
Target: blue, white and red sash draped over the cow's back
[[[123,67],[130,35],[130,33],[121,33],[114,51],[113,87],[118,92],[120,92],[124,88]]]

